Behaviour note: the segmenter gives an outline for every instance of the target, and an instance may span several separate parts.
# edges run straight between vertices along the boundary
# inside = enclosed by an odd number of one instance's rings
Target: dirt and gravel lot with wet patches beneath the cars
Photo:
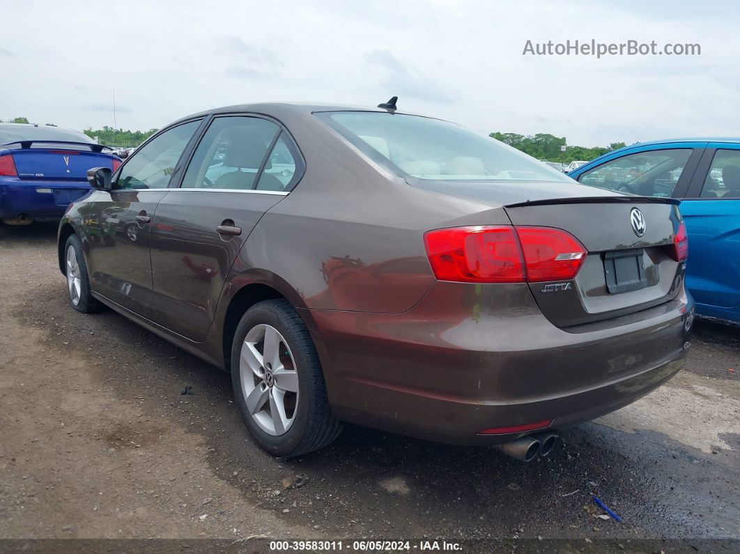
[[[284,461],[229,376],[67,305],[55,227],[5,230],[0,283],[1,538],[740,537],[740,328],[700,321],[687,371],[529,465],[355,427]]]

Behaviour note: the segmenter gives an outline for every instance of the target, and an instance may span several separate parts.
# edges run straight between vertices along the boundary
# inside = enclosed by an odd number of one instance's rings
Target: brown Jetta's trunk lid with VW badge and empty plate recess
[[[677,203],[665,198],[606,196],[505,206],[515,226],[564,229],[588,251],[575,279],[530,283],[545,317],[566,328],[623,316],[676,297],[685,269],[671,255],[681,222]]]

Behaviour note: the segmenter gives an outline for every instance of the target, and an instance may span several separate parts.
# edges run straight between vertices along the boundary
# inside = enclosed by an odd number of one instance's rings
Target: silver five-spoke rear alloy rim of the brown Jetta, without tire
[[[280,331],[255,325],[246,334],[239,358],[246,408],[265,433],[280,436],[291,428],[298,407],[295,359]]]

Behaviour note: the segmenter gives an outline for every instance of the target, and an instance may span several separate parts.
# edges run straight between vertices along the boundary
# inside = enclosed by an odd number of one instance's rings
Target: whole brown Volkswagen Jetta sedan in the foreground
[[[73,308],[230,371],[279,456],[353,422],[531,459],[689,346],[676,201],[392,105],[212,109],[90,182],[58,234]]]

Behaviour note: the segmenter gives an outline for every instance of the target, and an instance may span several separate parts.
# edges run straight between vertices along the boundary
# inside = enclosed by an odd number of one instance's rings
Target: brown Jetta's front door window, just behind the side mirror
[[[121,167],[116,189],[166,189],[180,156],[201,121],[190,121],[152,138]]]

